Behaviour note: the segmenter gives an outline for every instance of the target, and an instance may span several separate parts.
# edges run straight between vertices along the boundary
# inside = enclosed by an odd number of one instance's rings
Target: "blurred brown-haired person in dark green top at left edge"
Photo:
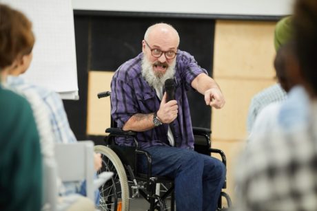
[[[16,14],[19,14],[16,16]],[[1,84],[30,52],[30,24],[0,3],[0,210],[41,210],[42,161],[30,104]]]

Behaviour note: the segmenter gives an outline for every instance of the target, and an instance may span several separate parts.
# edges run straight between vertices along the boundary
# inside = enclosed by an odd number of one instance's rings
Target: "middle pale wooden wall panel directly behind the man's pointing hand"
[[[225,96],[225,107],[212,110],[212,134],[218,140],[243,140],[247,135],[247,112],[251,98],[273,85],[272,80],[216,78]]]

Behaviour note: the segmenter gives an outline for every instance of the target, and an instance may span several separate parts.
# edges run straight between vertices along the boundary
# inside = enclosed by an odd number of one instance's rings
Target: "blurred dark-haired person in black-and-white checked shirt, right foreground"
[[[238,210],[317,210],[317,1],[297,0],[293,21],[302,80],[238,163]]]

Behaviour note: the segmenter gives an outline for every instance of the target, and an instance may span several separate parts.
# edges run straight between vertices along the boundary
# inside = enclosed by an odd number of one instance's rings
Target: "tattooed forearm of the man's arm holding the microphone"
[[[123,125],[123,131],[148,131],[154,128],[153,124],[154,113],[136,113],[125,122]]]

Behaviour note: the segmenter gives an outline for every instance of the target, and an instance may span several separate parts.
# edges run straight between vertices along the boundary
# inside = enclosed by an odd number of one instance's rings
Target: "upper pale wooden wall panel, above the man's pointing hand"
[[[216,21],[215,78],[273,78],[274,22]]]

